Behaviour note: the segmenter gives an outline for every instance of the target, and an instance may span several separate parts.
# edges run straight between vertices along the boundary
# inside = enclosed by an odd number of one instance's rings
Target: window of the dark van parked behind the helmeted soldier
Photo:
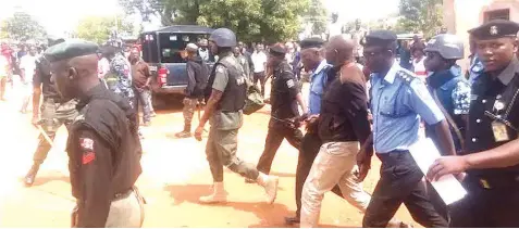
[[[185,48],[187,43],[198,43],[207,39],[208,35],[201,34],[159,34],[159,52],[161,63],[185,63]]]

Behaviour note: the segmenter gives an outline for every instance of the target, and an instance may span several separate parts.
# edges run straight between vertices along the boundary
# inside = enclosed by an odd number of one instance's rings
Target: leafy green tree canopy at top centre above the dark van
[[[126,13],[144,20],[157,15],[173,24],[228,27],[243,41],[274,42],[296,38],[310,0],[119,0]]]

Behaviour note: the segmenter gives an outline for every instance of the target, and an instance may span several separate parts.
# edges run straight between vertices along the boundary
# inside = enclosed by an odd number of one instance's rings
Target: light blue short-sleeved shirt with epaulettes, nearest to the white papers
[[[394,63],[386,76],[371,76],[371,112],[376,153],[406,151],[419,138],[420,117],[433,125],[445,117],[425,84]]]

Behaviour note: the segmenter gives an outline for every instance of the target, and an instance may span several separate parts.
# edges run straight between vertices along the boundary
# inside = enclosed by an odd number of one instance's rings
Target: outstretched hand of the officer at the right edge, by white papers
[[[467,170],[468,167],[469,163],[465,156],[442,156],[429,168],[428,179],[430,181],[435,181],[449,174],[455,175],[459,179],[462,177],[459,176],[459,174]]]

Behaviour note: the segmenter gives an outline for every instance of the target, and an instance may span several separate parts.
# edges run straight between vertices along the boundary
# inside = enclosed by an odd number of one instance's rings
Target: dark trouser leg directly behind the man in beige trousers
[[[322,141],[319,138],[318,133],[307,132],[302,137],[301,147],[299,149],[299,157],[297,158],[297,170],[296,170],[296,217],[299,218],[301,213],[301,194],[302,186],[307,180],[308,174],[312,168],[313,161],[316,160],[319,149],[321,148]],[[343,196],[338,186],[335,186],[332,189],[332,192],[338,196]]]

